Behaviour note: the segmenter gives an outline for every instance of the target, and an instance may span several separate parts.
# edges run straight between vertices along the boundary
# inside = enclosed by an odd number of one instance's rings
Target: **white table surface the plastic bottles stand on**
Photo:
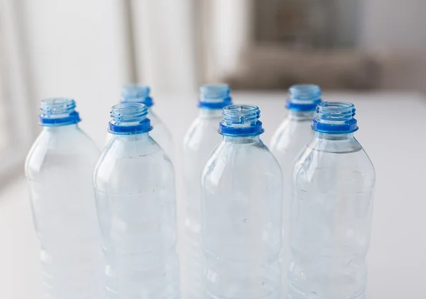
[[[163,98],[155,111],[175,138],[180,220],[182,138],[197,108],[194,96]],[[234,93],[236,103],[261,108],[266,129],[262,139],[267,145],[285,114],[284,98],[284,93]],[[355,135],[376,167],[367,298],[425,298],[426,99],[407,93],[329,93],[324,100],[355,103],[359,120]],[[82,127],[103,127],[96,124],[96,119],[87,120]],[[104,135],[104,130],[97,130],[93,137],[100,144]],[[0,194],[0,242],[0,298],[42,299],[39,245],[23,178]]]

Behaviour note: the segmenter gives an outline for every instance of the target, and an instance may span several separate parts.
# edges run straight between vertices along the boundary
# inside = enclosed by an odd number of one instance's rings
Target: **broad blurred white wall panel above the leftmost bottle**
[[[23,0],[33,100],[77,100],[84,128],[98,144],[121,84],[132,81],[125,1]],[[34,111],[37,113],[37,111]]]

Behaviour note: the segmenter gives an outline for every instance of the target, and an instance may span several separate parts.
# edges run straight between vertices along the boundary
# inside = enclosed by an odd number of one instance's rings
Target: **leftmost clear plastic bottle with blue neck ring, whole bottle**
[[[102,247],[92,174],[99,158],[78,127],[75,101],[41,102],[43,131],[26,159],[45,298],[104,299]]]

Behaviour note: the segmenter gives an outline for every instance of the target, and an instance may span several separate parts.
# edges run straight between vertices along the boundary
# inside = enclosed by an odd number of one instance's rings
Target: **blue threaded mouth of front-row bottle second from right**
[[[263,133],[259,120],[261,111],[254,105],[230,105],[224,108],[219,134],[234,137],[250,137]]]

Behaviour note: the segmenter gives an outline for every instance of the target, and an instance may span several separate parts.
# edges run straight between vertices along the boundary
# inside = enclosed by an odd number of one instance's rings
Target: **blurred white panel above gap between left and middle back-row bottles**
[[[197,87],[196,1],[130,1],[138,81],[153,92],[185,93]]]

